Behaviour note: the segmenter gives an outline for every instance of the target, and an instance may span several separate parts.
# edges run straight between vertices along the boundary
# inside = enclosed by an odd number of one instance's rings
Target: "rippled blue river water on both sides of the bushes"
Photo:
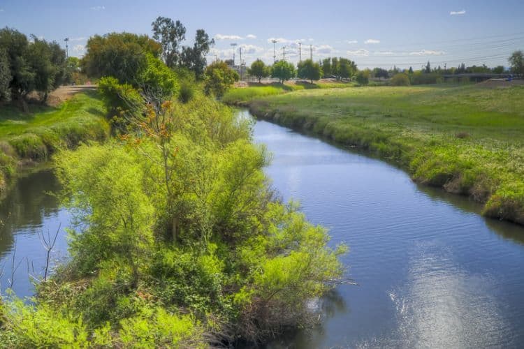
[[[241,117],[250,117],[246,111]],[[321,325],[285,334],[268,348],[517,348],[524,343],[524,228],[486,219],[467,198],[418,186],[374,158],[257,121],[254,140],[273,154],[266,169],[284,200],[299,200],[307,218],[345,242],[347,274],[319,302]],[[70,215],[45,191],[49,172],[20,180],[0,218],[2,290],[10,258],[43,268],[36,232],[54,232]],[[65,255],[61,232],[54,256]],[[30,295],[27,262],[15,277]],[[25,275],[25,277],[24,277]],[[9,276],[9,277],[8,277]]]

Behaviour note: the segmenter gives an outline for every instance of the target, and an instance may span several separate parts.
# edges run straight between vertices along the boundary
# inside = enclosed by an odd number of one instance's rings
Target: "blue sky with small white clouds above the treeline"
[[[250,64],[271,63],[286,46],[286,60],[340,56],[359,67],[420,68],[486,64],[507,66],[512,51],[524,50],[524,1],[5,1],[0,27],[14,27],[46,40],[71,39],[69,52],[81,57],[87,38],[110,31],[151,34],[158,16],[181,20],[188,43],[196,29],[216,40],[215,55]]]

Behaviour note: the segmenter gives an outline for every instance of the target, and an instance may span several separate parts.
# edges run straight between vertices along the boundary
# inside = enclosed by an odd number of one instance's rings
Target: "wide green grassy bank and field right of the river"
[[[251,101],[269,119],[368,149],[421,183],[524,224],[524,88],[482,85],[296,91]]]

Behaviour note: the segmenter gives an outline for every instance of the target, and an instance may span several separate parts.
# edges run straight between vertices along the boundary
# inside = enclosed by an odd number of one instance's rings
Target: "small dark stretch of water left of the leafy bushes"
[[[38,233],[54,234],[62,223],[53,258],[66,255],[64,228],[69,220],[66,210],[60,209],[59,183],[50,171],[29,174],[17,181],[0,204],[0,290],[10,286],[19,297],[30,296],[33,285],[29,274],[39,276],[45,266],[45,251]],[[14,266],[13,267],[13,255]],[[13,269],[15,273],[13,274]]]

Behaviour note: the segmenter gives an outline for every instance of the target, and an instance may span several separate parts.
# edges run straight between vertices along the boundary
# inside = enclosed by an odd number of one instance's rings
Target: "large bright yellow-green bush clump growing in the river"
[[[2,338],[198,347],[227,328],[226,339],[257,341],[305,323],[305,301],[342,276],[346,248],[328,248],[326,230],[274,199],[248,121],[203,96],[145,110],[123,142],[57,157],[84,228],[34,307],[3,307]],[[42,321],[15,328],[20,314]],[[55,314],[71,331],[37,341]]]

